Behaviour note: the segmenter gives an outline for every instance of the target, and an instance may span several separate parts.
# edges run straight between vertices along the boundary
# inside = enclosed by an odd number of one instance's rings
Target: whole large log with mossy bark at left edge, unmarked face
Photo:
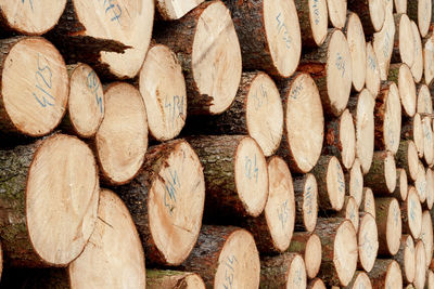
[[[90,148],[55,134],[1,150],[0,180],[0,236],[9,264],[66,266],[76,259],[97,220],[100,188]]]

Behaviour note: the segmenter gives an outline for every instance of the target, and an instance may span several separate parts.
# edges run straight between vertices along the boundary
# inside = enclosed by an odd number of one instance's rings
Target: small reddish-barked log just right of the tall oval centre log
[[[348,109],[326,124],[323,155],[333,155],[339,158],[346,170],[354,167],[356,158],[356,130],[353,115]]]

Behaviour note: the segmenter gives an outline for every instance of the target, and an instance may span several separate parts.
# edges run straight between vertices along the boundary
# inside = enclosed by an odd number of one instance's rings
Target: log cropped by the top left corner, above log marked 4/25
[[[1,1],[0,27],[8,32],[43,35],[58,24],[65,4],[66,0]]]

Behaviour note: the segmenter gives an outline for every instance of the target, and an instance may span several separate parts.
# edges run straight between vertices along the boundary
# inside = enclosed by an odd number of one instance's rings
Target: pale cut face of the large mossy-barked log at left
[[[65,266],[82,251],[94,228],[99,189],[95,160],[85,143],[63,134],[43,141],[28,172],[26,222],[46,263]]]

